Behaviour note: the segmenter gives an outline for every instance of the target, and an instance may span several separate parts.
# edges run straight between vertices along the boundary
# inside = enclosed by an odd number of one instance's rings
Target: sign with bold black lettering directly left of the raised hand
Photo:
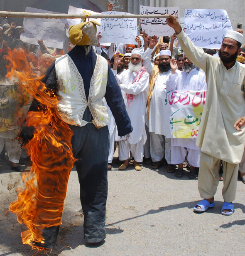
[[[140,5],[141,15],[179,15],[179,7],[151,7]],[[141,19],[142,30],[149,36],[159,37],[173,35],[174,29],[167,25],[166,18],[145,18]]]

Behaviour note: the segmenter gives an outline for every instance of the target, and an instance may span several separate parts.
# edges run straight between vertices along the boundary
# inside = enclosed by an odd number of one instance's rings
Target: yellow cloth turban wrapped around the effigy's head
[[[73,45],[97,45],[96,25],[100,26],[95,20],[81,22],[71,25],[69,28],[69,39]]]

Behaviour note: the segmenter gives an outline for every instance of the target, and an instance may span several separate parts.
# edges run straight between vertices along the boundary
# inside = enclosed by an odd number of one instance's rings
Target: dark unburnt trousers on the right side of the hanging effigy
[[[105,206],[108,194],[108,127],[97,129],[92,123],[71,126],[73,156],[80,183],[80,199],[84,215],[84,238],[97,243],[105,238]]]

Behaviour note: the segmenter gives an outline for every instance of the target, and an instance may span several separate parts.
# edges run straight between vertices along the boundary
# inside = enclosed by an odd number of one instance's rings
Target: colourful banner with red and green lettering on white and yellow
[[[206,91],[166,92],[172,138],[196,138],[201,122]]]

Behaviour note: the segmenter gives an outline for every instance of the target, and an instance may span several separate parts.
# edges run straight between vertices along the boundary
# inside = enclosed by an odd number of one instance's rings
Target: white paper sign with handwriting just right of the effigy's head
[[[101,14],[130,14],[127,12],[101,12]],[[100,28],[102,38],[100,43],[124,43],[135,45],[137,36],[137,19],[133,18],[103,18]]]

